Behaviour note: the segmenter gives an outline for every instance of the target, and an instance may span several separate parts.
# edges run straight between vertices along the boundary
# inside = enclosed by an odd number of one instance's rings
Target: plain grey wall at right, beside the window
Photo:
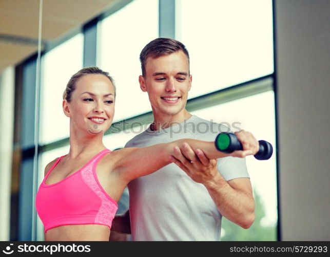
[[[283,241],[330,240],[330,1],[277,0]]]

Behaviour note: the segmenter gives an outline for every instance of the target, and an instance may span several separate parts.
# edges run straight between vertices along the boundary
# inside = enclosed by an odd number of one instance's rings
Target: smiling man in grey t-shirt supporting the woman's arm
[[[218,133],[228,132],[227,127],[186,110],[192,77],[182,43],[153,40],[142,50],[140,61],[140,87],[149,96],[154,121],[125,147],[181,138],[213,141]],[[258,151],[250,133],[237,136],[244,150]],[[244,158],[209,160],[187,145],[171,160],[168,166],[128,185],[133,241],[219,241],[222,216],[243,228],[251,226],[255,205]],[[114,221],[112,231],[125,230],[121,223],[125,217]]]

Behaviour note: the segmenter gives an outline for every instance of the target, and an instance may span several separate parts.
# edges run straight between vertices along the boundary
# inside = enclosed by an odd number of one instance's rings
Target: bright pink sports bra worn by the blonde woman
[[[96,164],[109,152],[108,149],[101,151],[80,170],[46,185],[50,172],[65,155],[56,160],[42,181],[35,200],[45,233],[63,225],[100,224],[111,228],[118,204],[104,191],[95,171]]]

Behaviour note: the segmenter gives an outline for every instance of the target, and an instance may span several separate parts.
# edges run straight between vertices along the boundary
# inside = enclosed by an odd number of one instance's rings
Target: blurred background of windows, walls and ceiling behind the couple
[[[43,240],[34,197],[69,151],[62,94],[83,67],[117,86],[104,137],[122,148],[152,121],[139,54],[158,37],[190,54],[187,109],[273,144],[247,158],[256,221],[223,218],[223,241],[330,240],[330,2],[327,0],[1,0],[0,241]],[[118,213],[128,206],[125,191]]]

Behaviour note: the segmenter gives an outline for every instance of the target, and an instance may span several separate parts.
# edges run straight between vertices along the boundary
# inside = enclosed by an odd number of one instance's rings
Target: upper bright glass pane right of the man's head
[[[190,55],[190,98],[273,73],[271,0],[178,0],[176,10],[176,38]]]

